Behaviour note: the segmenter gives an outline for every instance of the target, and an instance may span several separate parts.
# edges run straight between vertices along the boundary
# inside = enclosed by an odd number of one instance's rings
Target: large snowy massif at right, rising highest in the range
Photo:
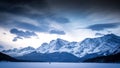
[[[92,53],[109,55],[120,52],[119,48],[120,37],[108,34],[99,38],[85,39],[80,44],[79,53],[81,52],[83,56]]]

